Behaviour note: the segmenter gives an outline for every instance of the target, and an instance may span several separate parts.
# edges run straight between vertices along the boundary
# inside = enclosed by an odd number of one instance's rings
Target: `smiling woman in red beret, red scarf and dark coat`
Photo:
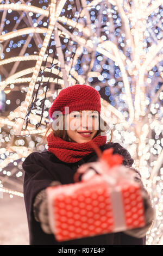
[[[119,143],[106,143],[108,127],[102,122],[100,112],[99,93],[84,84],[61,90],[49,109],[49,116],[54,121],[47,137],[48,150],[31,153],[22,165],[30,245],[145,245],[146,233],[154,217],[148,193],[143,188],[139,172],[131,167],[134,160],[128,151]],[[113,153],[121,154],[123,164],[135,172],[135,180],[142,187],[146,226],[58,242],[49,227],[45,188],[74,183],[73,177],[79,166],[98,160],[90,141],[101,151],[114,148]]]

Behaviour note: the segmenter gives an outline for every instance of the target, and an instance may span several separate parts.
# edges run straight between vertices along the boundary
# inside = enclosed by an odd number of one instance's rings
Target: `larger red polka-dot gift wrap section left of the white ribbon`
[[[105,184],[55,198],[55,239],[65,241],[114,230],[111,199]]]

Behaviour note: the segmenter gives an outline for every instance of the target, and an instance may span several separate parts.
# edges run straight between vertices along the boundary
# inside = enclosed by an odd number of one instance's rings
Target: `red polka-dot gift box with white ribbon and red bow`
[[[46,189],[49,222],[57,241],[145,225],[141,188],[133,171],[121,164],[121,156],[114,155],[111,161],[106,153],[98,162],[83,165],[82,181]],[[90,164],[98,174],[92,174]]]

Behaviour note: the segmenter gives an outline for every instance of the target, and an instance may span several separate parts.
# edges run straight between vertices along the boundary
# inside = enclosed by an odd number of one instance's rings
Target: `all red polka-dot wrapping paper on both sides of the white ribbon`
[[[63,185],[58,196],[52,199],[55,239],[66,241],[114,232],[112,189],[101,181],[89,186],[76,184],[75,193],[65,193],[71,186],[74,185]],[[49,191],[55,189],[50,187]],[[121,196],[126,229],[143,227],[145,216],[139,185],[123,184]]]

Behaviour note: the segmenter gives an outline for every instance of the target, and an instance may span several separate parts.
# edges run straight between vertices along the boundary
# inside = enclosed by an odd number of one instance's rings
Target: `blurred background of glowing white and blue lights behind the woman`
[[[0,20],[0,244],[29,244],[22,162],[47,149],[60,90],[87,84],[151,194],[147,245],[162,245],[162,1],[0,0]]]

